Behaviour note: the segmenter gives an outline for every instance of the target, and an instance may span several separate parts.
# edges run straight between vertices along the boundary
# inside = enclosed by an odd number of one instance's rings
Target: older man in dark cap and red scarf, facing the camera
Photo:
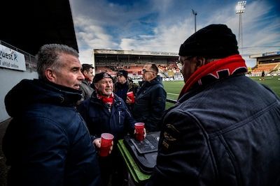
[[[111,177],[113,185],[123,185],[125,164],[116,145],[119,139],[134,132],[134,119],[127,106],[113,93],[113,78],[106,72],[95,75],[92,97],[81,102],[78,111],[87,123],[90,134],[100,137],[109,132],[114,136],[114,148],[108,157],[99,157],[102,185],[108,185]]]

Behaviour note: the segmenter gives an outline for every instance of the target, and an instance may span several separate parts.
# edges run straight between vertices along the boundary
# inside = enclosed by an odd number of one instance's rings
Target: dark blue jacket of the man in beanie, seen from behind
[[[148,185],[280,185],[280,100],[239,75],[189,91],[165,113]]]

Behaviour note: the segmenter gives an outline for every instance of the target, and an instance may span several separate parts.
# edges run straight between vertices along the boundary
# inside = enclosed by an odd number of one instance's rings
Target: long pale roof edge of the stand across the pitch
[[[151,55],[151,56],[179,56],[176,52],[151,52],[137,50],[118,50],[118,49],[93,49],[94,54],[127,54],[127,55]]]

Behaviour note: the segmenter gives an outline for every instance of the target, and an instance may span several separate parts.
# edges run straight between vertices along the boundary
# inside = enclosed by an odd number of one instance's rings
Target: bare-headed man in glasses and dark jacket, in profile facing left
[[[165,111],[167,93],[158,75],[155,63],[146,63],[142,70],[143,84],[137,92],[135,103],[132,105],[132,114],[137,122],[144,122],[147,132],[160,130],[160,119]],[[127,102],[131,102],[127,98]]]

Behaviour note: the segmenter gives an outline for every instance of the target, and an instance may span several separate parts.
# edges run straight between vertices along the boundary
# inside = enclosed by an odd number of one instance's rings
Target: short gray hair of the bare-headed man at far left
[[[48,44],[43,45],[38,54],[36,54],[37,60],[37,72],[39,79],[46,79],[45,70],[52,68],[52,70],[60,70],[61,61],[59,56],[61,54],[70,54],[78,58],[78,52],[67,45],[61,44]]]

